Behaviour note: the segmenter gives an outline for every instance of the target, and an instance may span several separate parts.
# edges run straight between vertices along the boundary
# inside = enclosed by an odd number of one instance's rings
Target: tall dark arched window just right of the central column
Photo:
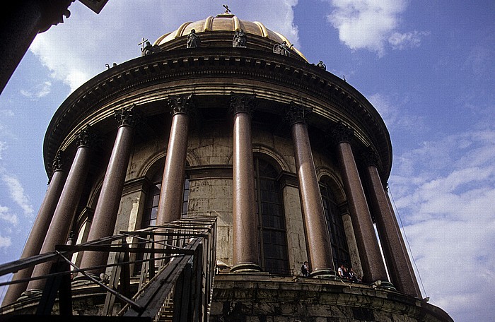
[[[278,171],[255,157],[256,209],[260,234],[260,263],[263,270],[289,275],[284,205],[276,181]]]

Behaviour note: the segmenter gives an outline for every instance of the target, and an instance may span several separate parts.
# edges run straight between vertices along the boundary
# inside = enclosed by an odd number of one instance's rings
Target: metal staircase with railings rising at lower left
[[[81,269],[70,260],[80,251],[110,254],[115,260]],[[72,292],[77,284],[71,276],[78,274],[75,280],[86,281],[83,286],[79,282],[78,290],[89,290],[94,285],[105,290],[105,302],[98,308],[100,315],[148,321],[207,321],[215,274],[216,218],[190,217],[74,246],[60,245],[53,253],[0,265],[0,276],[49,261],[53,262],[50,274],[35,278],[47,279],[42,294],[35,295],[39,299],[37,315],[51,314],[58,302],[59,314],[71,316]],[[86,273],[98,269],[109,274],[95,277]],[[0,309],[0,319],[7,311],[16,314],[15,309],[6,306]]]

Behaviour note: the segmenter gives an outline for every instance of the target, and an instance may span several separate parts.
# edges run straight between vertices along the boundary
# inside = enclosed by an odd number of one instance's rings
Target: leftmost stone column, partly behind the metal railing
[[[64,165],[63,152],[59,150],[52,165],[52,179],[50,180],[45,198],[41,203],[40,210],[37,213],[28,240],[25,243],[21,259],[40,254],[41,246],[47,235],[48,227],[50,227],[50,222],[52,222],[53,213],[57,207],[60,194],[62,193],[62,189],[64,188],[67,179],[67,172],[66,169],[64,169]],[[30,278],[33,269],[34,267],[19,270],[13,275],[12,281]],[[10,285],[2,305],[5,306],[15,302],[16,299],[21,297],[21,294],[25,291],[26,287],[28,287],[28,282]]]

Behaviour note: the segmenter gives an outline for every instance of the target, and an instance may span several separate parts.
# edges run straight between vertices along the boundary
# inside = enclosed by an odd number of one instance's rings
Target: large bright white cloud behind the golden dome
[[[281,32],[298,47],[298,28],[293,24],[297,2],[245,1],[242,6],[232,5],[231,10],[240,19],[261,21]],[[185,8],[194,10],[185,14]],[[120,64],[140,56],[141,37],[153,42],[186,20],[202,20],[223,12],[220,4],[206,0],[146,1],[144,6],[135,6],[134,1],[109,1],[99,15],[76,1],[69,10],[71,17],[37,35],[30,51],[50,70],[52,78],[69,85],[71,91],[104,71],[105,64]]]

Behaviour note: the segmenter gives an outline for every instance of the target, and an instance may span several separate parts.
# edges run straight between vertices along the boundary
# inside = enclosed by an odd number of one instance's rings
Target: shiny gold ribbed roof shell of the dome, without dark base
[[[158,44],[159,46],[165,44],[166,42],[170,42],[179,37],[184,37],[189,35],[191,30],[195,30],[197,34],[201,34],[201,32],[215,32],[215,31],[239,31],[244,30],[246,35],[256,35],[259,37],[267,38],[268,40],[272,40],[278,44],[282,42],[286,42],[289,47],[292,46],[291,42],[279,32],[269,30],[262,23],[258,21],[248,21],[248,20],[240,20],[236,16],[230,13],[222,13],[218,16],[209,16],[206,19],[182,23],[180,27],[173,31],[168,32],[165,35],[161,36],[154,42],[154,44]],[[301,56],[305,61],[307,59],[305,56],[299,52],[295,47],[291,47],[291,49],[296,52],[299,56]]]

